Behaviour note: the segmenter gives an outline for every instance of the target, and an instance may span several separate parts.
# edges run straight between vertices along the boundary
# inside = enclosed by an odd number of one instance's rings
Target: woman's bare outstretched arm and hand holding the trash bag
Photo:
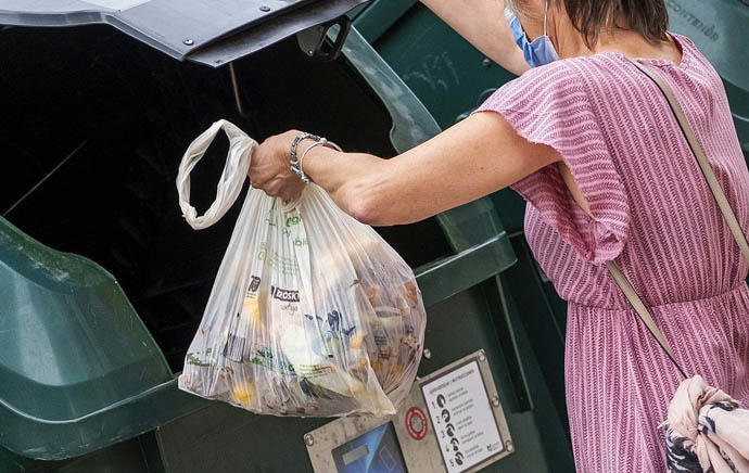
[[[255,151],[253,187],[284,199],[301,191],[301,181],[288,170],[297,133],[271,137]],[[309,144],[303,141],[300,152]],[[558,161],[556,151],[521,138],[502,115],[482,112],[391,159],[315,146],[304,171],[357,220],[390,226],[471,202]]]

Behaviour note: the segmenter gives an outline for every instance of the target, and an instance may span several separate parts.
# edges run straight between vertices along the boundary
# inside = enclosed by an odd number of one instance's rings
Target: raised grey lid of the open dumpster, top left
[[[0,24],[104,23],[177,60],[217,67],[341,16],[365,1],[5,0],[0,5]]]

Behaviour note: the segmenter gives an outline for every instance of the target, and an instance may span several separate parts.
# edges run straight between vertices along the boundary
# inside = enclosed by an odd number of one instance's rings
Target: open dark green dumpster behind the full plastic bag
[[[0,71],[0,141],[23,163],[0,176],[0,472],[312,472],[305,435],[331,420],[255,416],[176,387],[241,205],[194,232],[177,206],[177,164],[218,117],[256,139],[295,127],[383,157],[439,126],[355,28],[345,36],[337,15],[355,2],[266,23],[251,12],[253,27],[194,37],[154,35],[138,9],[173,11],[136,3],[0,11],[13,25],[84,24],[0,30],[0,57],[14,64]],[[130,37],[88,25],[102,17]],[[338,57],[316,29],[331,18],[345,37]],[[223,155],[216,144],[193,178],[199,209]],[[428,306],[419,375],[479,350],[488,363],[513,444],[485,471],[570,471],[553,396],[531,388],[544,374],[503,282],[517,256],[494,202],[378,230]]]

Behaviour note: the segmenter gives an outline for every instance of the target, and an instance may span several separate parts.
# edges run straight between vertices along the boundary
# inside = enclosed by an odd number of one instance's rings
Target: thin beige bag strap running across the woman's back
[[[704,155],[704,151],[702,150],[699,140],[697,140],[697,137],[695,136],[695,132],[693,131],[689,122],[687,122],[686,116],[684,115],[684,111],[678,104],[678,101],[676,101],[673,91],[671,90],[668,84],[661,80],[660,77],[656,76],[649,68],[645,67],[643,64],[635,60],[629,60],[639,71],[642,71],[646,76],[648,76],[656,84],[656,86],[658,86],[658,88],[661,89],[661,92],[663,92],[663,95],[668,100],[671,111],[676,117],[678,126],[682,129],[682,132],[684,133],[684,137],[686,138],[687,143],[689,144],[689,148],[691,149],[695,158],[697,159],[697,164],[702,170],[702,175],[704,176],[704,179],[708,182],[708,187],[710,188],[710,191],[715,197],[715,202],[718,202],[718,206],[720,207],[721,213],[723,214],[723,217],[725,218],[725,221],[728,225],[728,228],[731,229],[731,233],[734,235],[734,239],[736,240],[736,243],[741,250],[744,257],[747,259],[747,261],[749,261],[749,244],[747,244],[747,239],[744,234],[744,231],[741,230],[741,227],[739,226],[738,220],[736,219],[736,215],[734,214],[733,208],[731,208],[731,204],[728,204],[728,200],[725,197],[723,188],[718,181],[715,172],[710,166],[710,163],[708,162],[708,158]],[[669,356],[671,361],[674,363],[678,372],[682,374],[682,376],[687,378],[682,367],[676,362],[673,351],[669,346],[669,342],[663,336],[663,333],[660,331],[655,320],[652,320],[650,312],[648,311],[647,307],[645,307],[645,304],[643,304],[643,301],[639,298],[637,292],[634,290],[630,281],[626,279],[626,276],[624,276],[621,269],[619,269],[619,266],[617,266],[617,264],[613,261],[607,261],[606,267],[608,268],[609,272],[613,277],[619,287],[621,287],[626,298],[630,301],[630,304],[632,304],[632,307],[635,309],[643,323],[645,323],[645,325],[648,328],[648,330],[656,338],[658,344],[661,346],[661,348],[663,348],[663,350]]]

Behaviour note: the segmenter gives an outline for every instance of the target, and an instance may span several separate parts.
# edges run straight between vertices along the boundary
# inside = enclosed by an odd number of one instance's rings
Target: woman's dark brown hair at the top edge
[[[564,3],[585,46],[593,48],[604,28],[625,28],[639,33],[648,41],[668,41],[669,12],[664,0],[554,0]],[[625,22],[623,25],[617,21]]]

